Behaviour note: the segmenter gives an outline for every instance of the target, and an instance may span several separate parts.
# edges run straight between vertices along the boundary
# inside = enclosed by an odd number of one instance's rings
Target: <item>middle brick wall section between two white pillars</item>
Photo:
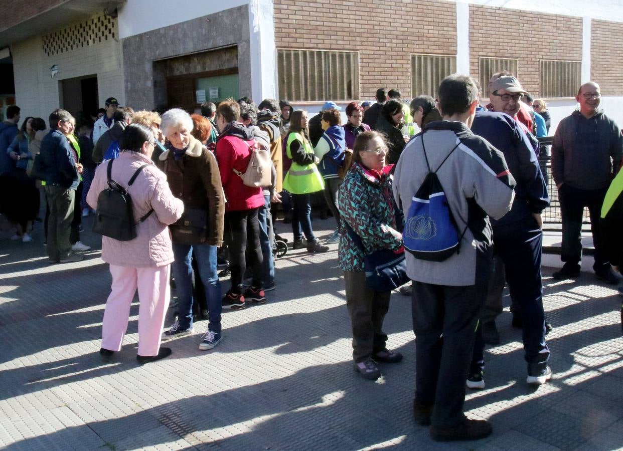
[[[478,57],[517,58],[515,75],[538,96],[540,59],[582,60],[582,19],[470,5],[469,40],[472,77]]]

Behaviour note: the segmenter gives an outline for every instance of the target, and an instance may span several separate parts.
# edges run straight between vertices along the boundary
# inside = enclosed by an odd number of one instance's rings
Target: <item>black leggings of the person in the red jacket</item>
[[[260,226],[257,211],[240,210],[225,213],[225,243],[229,247],[232,292],[242,291],[242,274],[247,267],[245,254],[249,258],[252,286],[262,286],[262,248],[260,247]]]

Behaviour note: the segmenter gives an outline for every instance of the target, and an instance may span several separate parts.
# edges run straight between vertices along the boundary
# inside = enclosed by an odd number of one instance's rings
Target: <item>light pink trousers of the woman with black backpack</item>
[[[138,288],[138,354],[158,355],[164,315],[171,300],[169,268],[110,265],[113,283],[104,310],[102,348],[121,350],[130,304]]]

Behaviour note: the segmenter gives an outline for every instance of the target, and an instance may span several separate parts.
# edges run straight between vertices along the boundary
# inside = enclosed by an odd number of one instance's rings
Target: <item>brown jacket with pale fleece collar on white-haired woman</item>
[[[221,246],[225,216],[225,196],[221,175],[212,152],[191,136],[186,153],[176,161],[170,150],[158,157],[158,167],[166,174],[171,192],[184,207],[208,211],[207,244]]]

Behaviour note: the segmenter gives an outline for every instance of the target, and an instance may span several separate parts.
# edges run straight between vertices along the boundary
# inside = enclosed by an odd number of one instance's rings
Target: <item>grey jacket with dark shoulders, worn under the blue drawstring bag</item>
[[[513,203],[515,179],[502,152],[475,136],[464,123],[427,124],[402,151],[394,172],[394,197],[407,215],[411,200],[428,174],[422,139],[431,170],[459,143],[437,172],[459,229],[467,225],[459,253],[443,262],[424,261],[406,253],[407,274],[414,281],[445,286],[471,286],[488,281],[493,267],[489,218],[499,219]]]

